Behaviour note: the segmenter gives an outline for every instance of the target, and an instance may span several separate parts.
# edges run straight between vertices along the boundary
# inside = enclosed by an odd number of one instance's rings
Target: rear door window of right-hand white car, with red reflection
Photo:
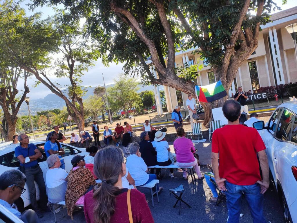
[[[280,139],[282,141],[290,140],[289,136],[294,119],[295,116],[293,115],[293,113],[284,110],[284,112],[282,113],[282,117],[279,120],[279,124],[276,130],[277,132],[275,134],[275,137],[277,137],[277,139]]]

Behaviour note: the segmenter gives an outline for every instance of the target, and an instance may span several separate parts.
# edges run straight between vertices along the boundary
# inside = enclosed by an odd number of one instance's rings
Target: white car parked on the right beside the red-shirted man
[[[275,109],[268,123],[254,127],[266,146],[270,178],[283,205],[285,222],[297,222],[297,102]]]

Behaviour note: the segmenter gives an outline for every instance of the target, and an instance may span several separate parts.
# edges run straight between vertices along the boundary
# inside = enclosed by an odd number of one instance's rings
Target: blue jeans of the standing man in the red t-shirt
[[[242,195],[244,195],[249,206],[249,211],[253,223],[265,223],[263,215],[263,194],[260,194],[261,188],[258,183],[253,185],[241,186],[225,181],[228,191],[225,191],[227,197],[228,223],[238,223],[240,215],[240,204]]]

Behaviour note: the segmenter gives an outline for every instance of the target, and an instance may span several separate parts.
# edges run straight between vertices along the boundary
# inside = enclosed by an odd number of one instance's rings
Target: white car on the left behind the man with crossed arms
[[[43,155],[43,158],[38,159],[38,164],[40,165],[40,168],[43,172],[43,178],[45,181],[46,172],[48,171],[48,163],[46,162],[46,155],[44,151],[44,144],[45,141],[33,141],[31,140],[30,143],[33,143],[36,145],[36,147],[40,150],[40,152]],[[5,147],[0,147],[0,175],[9,169],[17,169],[20,166],[20,162],[18,158],[15,157],[15,147],[19,146],[20,144],[13,144],[8,145]],[[65,155],[62,155],[65,161],[65,169],[67,172],[69,172],[72,168],[71,159],[79,153],[80,156],[86,156],[89,153],[86,152],[85,148],[78,148],[74,147],[65,143],[61,143],[62,148],[65,151]],[[38,185],[35,182],[36,187],[36,197],[37,200],[39,200],[39,189]],[[24,207],[28,206],[30,202],[30,196],[29,196],[29,189],[27,184],[25,184],[26,191],[21,195],[21,197],[15,201],[15,204],[18,206],[18,209],[20,211],[23,210]]]

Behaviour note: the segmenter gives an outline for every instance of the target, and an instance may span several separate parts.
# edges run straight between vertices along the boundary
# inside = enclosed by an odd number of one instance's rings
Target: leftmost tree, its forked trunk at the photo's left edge
[[[28,72],[23,72],[14,60],[7,57],[7,50],[5,46],[11,43],[18,45],[18,50],[22,51],[26,45],[19,44],[22,41],[18,33],[21,29],[26,29],[26,23],[30,19],[24,19],[24,11],[20,9],[18,4],[11,1],[4,1],[0,5],[0,106],[2,108],[4,117],[1,123],[5,142],[10,141],[15,134],[17,124],[17,114],[21,104],[29,92],[27,86]],[[18,85],[19,78],[24,79],[23,90],[19,91],[21,87]]]

